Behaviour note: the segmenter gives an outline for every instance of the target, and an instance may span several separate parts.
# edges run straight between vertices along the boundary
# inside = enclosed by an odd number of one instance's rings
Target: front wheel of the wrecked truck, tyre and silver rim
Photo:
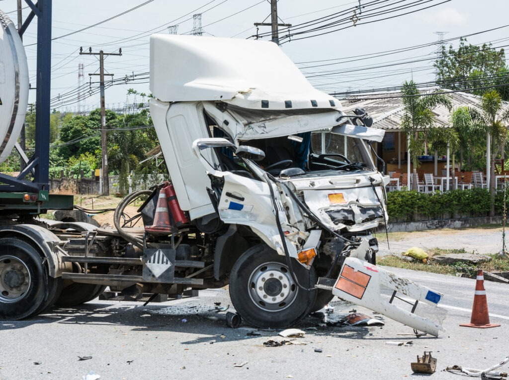
[[[301,286],[315,287],[314,268],[307,270],[295,261],[293,270]],[[316,290],[297,286],[286,258],[265,244],[246,250],[232,268],[232,303],[244,321],[258,328],[282,329],[295,324],[309,313],[316,296]]]

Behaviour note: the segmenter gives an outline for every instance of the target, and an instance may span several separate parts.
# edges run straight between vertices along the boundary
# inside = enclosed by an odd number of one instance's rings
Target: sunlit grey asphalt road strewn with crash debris
[[[216,312],[214,304],[230,304],[224,289],[146,307],[94,300],[30,320],[0,322],[0,379],[82,379],[90,372],[100,379],[136,380],[419,378],[428,375],[413,374],[410,363],[424,351],[437,358],[432,378],[454,379],[461,377],[443,372],[447,365],[486,368],[509,354],[507,285],[485,281],[491,322],[502,326],[466,328],[459,324],[470,322],[475,280],[386,269],[446,295],[444,334],[416,338],[410,328],[389,319],[383,327],[324,325],[324,318],[337,321],[355,307],[337,300],[330,304],[333,313],[308,316],[296,326],[306,332],[295,338],[300,344],[266,347],[263,343],[270,339],[285,338],[245,324],[228,328],[225,311]],[[412,345],[387,344],[408,341]],[[509,365],[502,369],[509,370]]]

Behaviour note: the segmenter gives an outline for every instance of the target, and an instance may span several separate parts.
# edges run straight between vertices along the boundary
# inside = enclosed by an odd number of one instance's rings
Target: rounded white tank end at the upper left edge
[[[0,11],[0,163],[18,140],[29,99],[25,50],[11,19]]]

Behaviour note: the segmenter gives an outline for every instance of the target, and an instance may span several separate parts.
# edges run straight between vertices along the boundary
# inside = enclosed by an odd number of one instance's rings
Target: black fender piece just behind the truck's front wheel
[[[228,231],[219,236],[214,249],[214,277],[219,280],[221,275],[229,272],[237,259],[249,244],[238,232],[236,225],[230,225]]]

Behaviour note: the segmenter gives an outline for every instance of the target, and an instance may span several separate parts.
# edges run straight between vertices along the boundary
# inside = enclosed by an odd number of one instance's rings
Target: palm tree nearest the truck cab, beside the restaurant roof
[[[435,125],[435,115],[432,109],[438,105],[444,105],[450,110],[452,102],[448,96],[442,93],[421,96],[414,81],[405,81],[401,93],[404,110],[401,126],[409,139],[408,160],[412,160],[413,164],[412,189],[417,190],[418,156],[424,148],[428,128]]]

